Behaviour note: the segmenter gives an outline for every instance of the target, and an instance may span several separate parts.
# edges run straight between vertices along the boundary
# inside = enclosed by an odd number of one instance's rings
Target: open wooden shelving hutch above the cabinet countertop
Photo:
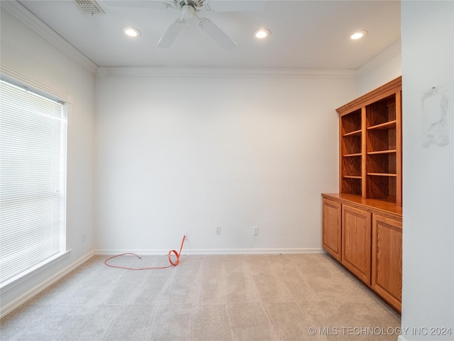
[[[402,205],[402,78],[337,112],[341,193]]]

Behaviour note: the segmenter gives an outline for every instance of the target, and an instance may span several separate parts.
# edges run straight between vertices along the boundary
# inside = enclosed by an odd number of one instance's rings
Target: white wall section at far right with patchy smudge
[[[454,338],[453,45],[453,1],[402,1],[402,340]]]

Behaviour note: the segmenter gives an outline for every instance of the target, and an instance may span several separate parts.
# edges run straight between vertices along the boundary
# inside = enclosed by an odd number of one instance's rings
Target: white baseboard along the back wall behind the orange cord
[[[165,255],[170,250],[163,249],[143,249],[143,250],[123,250],[123,249],[97,249],[94,251],[99,256],[113,256],[131,252],[142,256]],[[177,250],[178,251],[178,250]],[[300,249],[183,249],[184,255],[210,255],[210,254],[323,254],[321,248],[300,248]]]

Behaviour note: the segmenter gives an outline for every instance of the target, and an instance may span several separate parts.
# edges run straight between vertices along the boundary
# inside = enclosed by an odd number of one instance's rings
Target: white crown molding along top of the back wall
[[[246,67],[98,67],[96,76],[358,78],[357,70]]]

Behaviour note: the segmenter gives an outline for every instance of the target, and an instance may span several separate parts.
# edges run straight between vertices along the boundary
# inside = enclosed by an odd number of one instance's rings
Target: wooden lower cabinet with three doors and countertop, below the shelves
[[[399,313],[402,207],[359,195],[322,195],[322,247]]]

